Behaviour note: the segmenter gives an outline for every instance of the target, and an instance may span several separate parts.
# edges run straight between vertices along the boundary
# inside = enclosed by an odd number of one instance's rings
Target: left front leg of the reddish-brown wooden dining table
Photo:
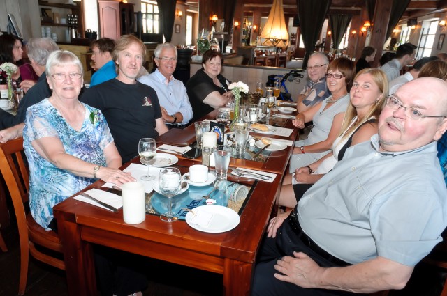
[[[80,226],[64,219],[57,219],[57,228],[64,246],[68,295],[98,295],[93,248],[91,244],[81,240]]]

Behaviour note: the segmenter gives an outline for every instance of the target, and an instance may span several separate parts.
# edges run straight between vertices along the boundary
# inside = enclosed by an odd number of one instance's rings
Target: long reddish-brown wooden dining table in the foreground
[[[212,113],[205,118],[213,116]],[[291,120],[282,119],[277,124],[293,127]],[[193,125],[186,127],[185,132],[191,130],[194,130]],[[294,140],[296,135],[297,130],[294,130],[290,137],[281,139]],[[94,244],[223,274],[225,295],[249,295],[256,254],[270,216],[276,209],[275,201],[292,150],[293,146],[288,146],[285,150],[272,152],[265,162],[231,159],[232,167],[269,171],[278,176],[273,182],[262,182],[228,174],[230,181],[251,185],[251,193],[240,210],[240,224],[225,233],[196,231],[185,221],[166,223],[159,215],[150,214],[142,223],[131,225],[124,223],[122,209],[114,213],[73,198],[59,203],[53,210],[64,245],[68,295],[97,295]],[[182,173],[186,173],[191,164],[200,162],[200,159],[178,158],[175,166]],[[132,162],[139,163],[139,157]],[[82,191],[108,189],[102,185],[104,182],[98,180]]]

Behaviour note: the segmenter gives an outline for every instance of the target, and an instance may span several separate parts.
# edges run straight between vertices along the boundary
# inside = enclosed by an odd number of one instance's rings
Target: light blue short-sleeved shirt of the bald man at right
[[[298,203],[303,231],[349,263],[381,256],[414,266],[440,242],[447,226],[447,188],[437,143],[398,153],[372,141],[344,159]]]

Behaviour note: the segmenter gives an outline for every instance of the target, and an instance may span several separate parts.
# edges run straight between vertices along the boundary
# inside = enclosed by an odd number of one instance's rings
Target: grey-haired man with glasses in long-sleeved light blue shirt
[[[156,70],[137,80],[151,86],[159,97],[161,118],[168,128],[183,128],[193,117],[193,109],[182,81],[175,79],[173,73],[177,65],[177,48],[171,43],[156,47]]]

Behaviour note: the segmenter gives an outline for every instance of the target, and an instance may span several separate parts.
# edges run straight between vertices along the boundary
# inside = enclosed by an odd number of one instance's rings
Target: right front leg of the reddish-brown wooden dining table
[[[223,295],[250,295],[251,272],[254,263],[226,259],[223,267]]]

